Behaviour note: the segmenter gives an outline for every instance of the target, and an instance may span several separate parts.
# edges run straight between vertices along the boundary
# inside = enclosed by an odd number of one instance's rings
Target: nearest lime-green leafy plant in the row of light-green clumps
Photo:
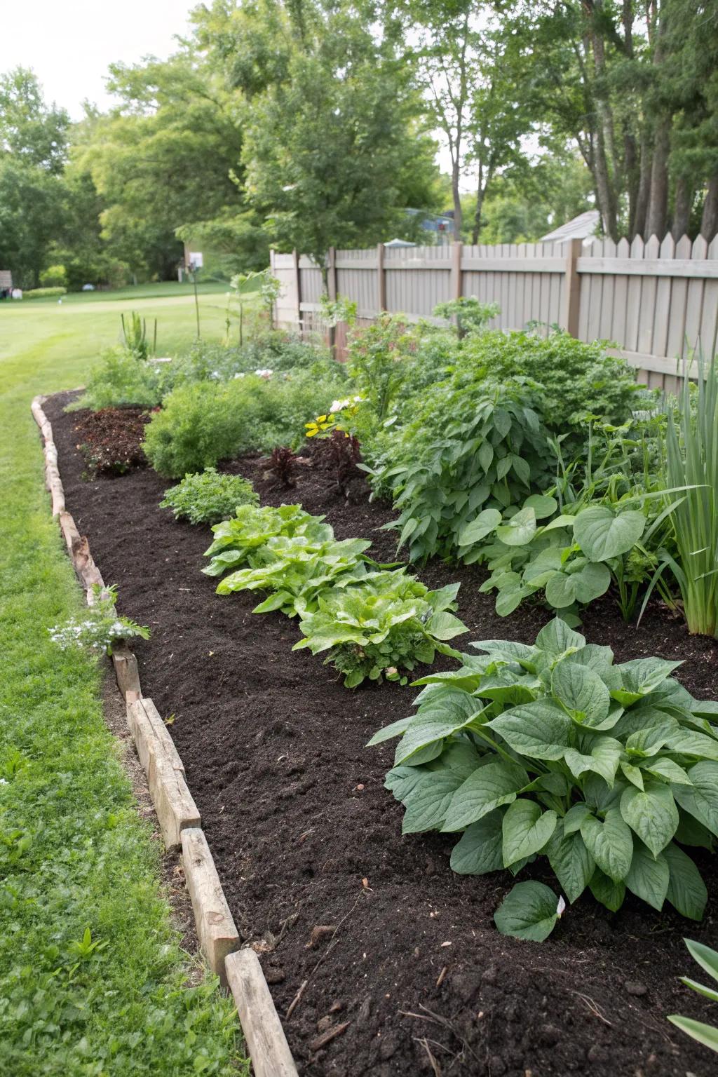
[[[446,645],[466,626],[453,615],[459,584],[430,591],[405,570],[372,572],[358,583],[319,595],[316,610],[299,628],[305,635],[294,651],[328,651],[330,662],[353,688],[365,677],[407,683],[402,670],[431,665],[435,653],[457,657]]]

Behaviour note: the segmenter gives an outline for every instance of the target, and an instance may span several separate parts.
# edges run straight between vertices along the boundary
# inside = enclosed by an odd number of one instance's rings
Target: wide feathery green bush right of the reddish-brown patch
[[[304,437],[305,416],[328,408],[342,376],[311,369],[239,373],[231,381],[180,384],[146,429],[144,451],[160,475],[178,478],[242,452],[270,452]]]

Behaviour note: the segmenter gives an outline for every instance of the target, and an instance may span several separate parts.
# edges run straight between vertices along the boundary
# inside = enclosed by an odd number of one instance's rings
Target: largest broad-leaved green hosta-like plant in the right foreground
[[[457,671],[421,679],[386,787],[404,833],[461,833],[451,866],[517,875],[543,855],[569,901],[616,911],[627,889],[700,920],[706,889],[685,845],[718,835],[718,704],[671,677],[679,662],[614,665],[563,620],[533,646],[473,644]]]

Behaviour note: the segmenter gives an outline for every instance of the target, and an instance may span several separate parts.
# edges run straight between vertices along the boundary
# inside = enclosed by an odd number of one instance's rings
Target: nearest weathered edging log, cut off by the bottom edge
[[[225,959],[225,969],[255,1077],[297,1077],[282,1022],[254,950],[230,953]]]

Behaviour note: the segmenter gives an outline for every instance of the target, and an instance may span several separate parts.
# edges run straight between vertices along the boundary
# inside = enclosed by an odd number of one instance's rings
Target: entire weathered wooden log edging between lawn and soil
[[[65,507],[53,428],[42,409],[46,398],[36,396],[30,405],[43,440],[45,487],[87,605],[93,605],[96,589],[102,591],[104,582],[87,538]],[[125,640],[113,646],[112,663],[163,841],[169,851],[181,850],[199,947],[212,971],[231,991],[255,1077],[298,1077],[259,960],[251,948],[241,949],[184,766],[155,704],[142,695],[137,658]]]

